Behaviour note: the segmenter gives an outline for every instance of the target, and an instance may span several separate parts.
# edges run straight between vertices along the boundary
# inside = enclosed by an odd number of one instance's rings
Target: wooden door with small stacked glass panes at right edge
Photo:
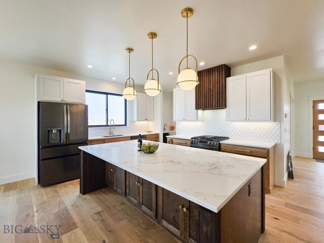
[[[313,101],[313,157],[324,158],[324,100]]]

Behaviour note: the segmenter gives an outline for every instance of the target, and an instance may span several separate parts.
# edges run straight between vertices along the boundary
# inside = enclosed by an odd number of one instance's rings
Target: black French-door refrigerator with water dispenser
[[[38,102],[38,184],[80,177],[78,147],[88,144],[88,105]]]

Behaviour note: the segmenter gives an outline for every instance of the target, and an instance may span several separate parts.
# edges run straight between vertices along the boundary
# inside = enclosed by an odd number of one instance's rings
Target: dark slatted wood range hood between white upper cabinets
[[[231,68],[226,64],[198,71],[199,84],[195,87],[195,109],[226,108],[226,77]]]

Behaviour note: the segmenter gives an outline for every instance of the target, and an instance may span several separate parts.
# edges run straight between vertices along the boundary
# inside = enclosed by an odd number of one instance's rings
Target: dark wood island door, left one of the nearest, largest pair
[[[188,217],[185,218],[183,208],[188,208],[189,201],[169,190],[157,187],[157,219],[169,231],[185,240],[185,228],[188,227]],[[188,241],[188,240],[185,240]]]

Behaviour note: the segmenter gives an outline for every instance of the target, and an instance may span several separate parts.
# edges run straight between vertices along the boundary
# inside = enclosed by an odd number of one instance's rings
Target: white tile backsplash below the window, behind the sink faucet
[[[142,133],[148,129],[148,121],[129,121],[129,126],[127,127],[115,127],[114,134]],[[89,137],[108,135],[109,127],[89,128]]]

